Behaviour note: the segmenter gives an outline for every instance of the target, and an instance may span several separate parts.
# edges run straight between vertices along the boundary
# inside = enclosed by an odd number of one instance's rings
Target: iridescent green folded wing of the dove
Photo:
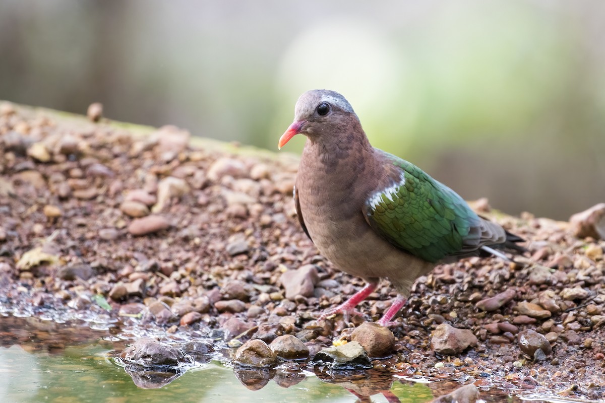
[[[486,222],[456,192],[408,161],[376,151],[399,168],[401,177],[371,195],[364,213],[368,224],[393,245],[437,262],[476,251],[486,243],[484,235],[494,238],[491,225],[486,228]]]

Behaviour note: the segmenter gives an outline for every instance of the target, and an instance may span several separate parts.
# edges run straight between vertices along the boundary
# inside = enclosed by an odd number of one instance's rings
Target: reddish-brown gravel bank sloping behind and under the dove
[[[86,312],[226,341],[292,334],[311,355],[350,340],[362,318],[315,318],[363,284],[299,228],[295,157],[117,124],[99,108],[87,120],[0,103],[2,312]],[[605,242],[576,237],[567,222],[473,206],[525,237],[529,252],[515,263],[471,257],[417,280],[391,329],[387,370],[601,398]],[[382,283],[360,306],[366,319],[394,295]],[[446,355],[431,344],[442,324],[477,340]]]

